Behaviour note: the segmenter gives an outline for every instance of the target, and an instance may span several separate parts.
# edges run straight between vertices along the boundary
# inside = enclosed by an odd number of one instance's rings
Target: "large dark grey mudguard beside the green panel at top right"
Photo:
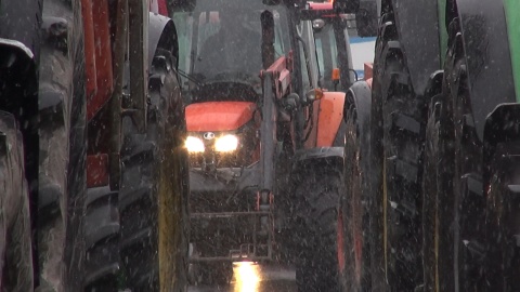
[[[471,96],[469,107],[482,140],[487,115],[495,112],[497,105],[516,101],[504,3],[503,0],[452,1],[457,4],[464,43],[471,44],[464,47]]]

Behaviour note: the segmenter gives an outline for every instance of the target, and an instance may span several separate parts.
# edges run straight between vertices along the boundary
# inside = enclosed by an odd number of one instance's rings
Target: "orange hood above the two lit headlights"
[[[251,120],[256,109],[250,102],[207,102],[186,106],[188,132],[233,131]]]

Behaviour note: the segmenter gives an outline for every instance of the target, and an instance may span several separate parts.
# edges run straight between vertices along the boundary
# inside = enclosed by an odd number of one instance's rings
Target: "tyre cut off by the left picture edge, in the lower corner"
[[[0,111],[0,291],[32,291],[32,244],[24,142],[13,115]]]

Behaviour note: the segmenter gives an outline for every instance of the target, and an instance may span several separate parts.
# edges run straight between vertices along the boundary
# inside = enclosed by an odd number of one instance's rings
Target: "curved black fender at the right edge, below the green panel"
[[[503,142],[518,141],[520,136],[520,104],[500,104],[487,115],[483,133],[483,183],[489,185],[491,180],[490,163],[496,145]]]

